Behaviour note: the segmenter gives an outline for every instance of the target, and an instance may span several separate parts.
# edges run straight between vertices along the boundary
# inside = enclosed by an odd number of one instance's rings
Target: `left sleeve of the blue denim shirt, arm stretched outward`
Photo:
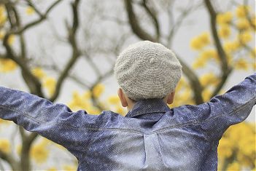
[[[72,112],[63,104],[53,104],[36,95],[0,87],[1,119],[37,132],[71,152],[86,149],[96,130],[97,117],[82,110]]]

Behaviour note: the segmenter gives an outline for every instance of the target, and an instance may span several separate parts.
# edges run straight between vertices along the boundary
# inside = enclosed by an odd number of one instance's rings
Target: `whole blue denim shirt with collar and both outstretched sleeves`
[[[126,116],[71,111],[26,92],[0,87],[0,118],[67,148],[77,170],[217,170],[217,146],[256,103],[256,74],[198,106],[168,108],[141,100]]]

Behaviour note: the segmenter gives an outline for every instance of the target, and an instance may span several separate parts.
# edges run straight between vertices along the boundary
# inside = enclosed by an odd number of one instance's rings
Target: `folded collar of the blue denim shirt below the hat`
[[[131,111],[128,111],[125,117],[134,117],[142,114],[150,113],[165,113],[170,108],[163,102],[162,99],[147,99],[136,102]]]

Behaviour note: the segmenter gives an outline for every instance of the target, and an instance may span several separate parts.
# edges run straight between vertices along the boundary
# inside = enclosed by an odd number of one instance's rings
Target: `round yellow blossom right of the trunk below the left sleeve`
[[[40,164],[47,161],[49,151],[45,148],[44,144],[40,143],[38,145],[32,146],[30,155],[36,163]]]

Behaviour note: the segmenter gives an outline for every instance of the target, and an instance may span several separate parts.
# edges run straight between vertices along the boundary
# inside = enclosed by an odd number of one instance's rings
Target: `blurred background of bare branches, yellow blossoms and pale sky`
[[[174,104],[197,105],[255,72],[253,0],[0,0],[0,85],[89,114],[123,116],[113,76],[129,44],[182,63]],[[218,170],[255,170],[255,108],[220,140]],[[0,119],[0,170],[77,170],[69,151]]]

